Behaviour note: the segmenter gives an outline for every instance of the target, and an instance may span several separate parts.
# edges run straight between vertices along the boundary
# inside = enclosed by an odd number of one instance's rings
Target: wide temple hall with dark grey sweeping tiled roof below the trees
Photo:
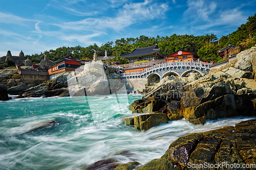
[[[136,47],[131,53],[120,54],[119,56],[128,60],[129,62],[136,62],[152,59],[163,59],[165,55],[161,52],[158,45],[155,44],[142,48]]]

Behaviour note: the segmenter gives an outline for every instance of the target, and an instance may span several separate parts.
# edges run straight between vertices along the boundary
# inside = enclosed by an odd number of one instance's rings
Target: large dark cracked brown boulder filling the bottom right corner
[[[162,156],[183,168],[192,164],[254,164],[256,120],[237,124],[235,127],[190,134],[180,137]],[[255,167],[254,167],[255,168]],[[250,169],[254,169],[253,167]],[[225,167],[220,169],[226,169]]]

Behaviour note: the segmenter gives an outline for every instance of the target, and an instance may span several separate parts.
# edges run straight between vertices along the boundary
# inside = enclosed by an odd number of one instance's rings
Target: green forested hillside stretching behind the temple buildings
[[[63,46],[56,50],[33,54],[30,58],[33,59],[41,55],[47,55],[49,59],[57,60],[60,57],[72,53],[72,55],[78,59],[92,59],[94,50],[97,51],[97,56],[104,56],[105,50],[108,52],[108,56],[119,56],[119,54],[131,52],[135,47],[146,47],[158,43],[158,46],[165,55],[172,54],[178,50],[185,50],[197,52],[198,56],[203,61],[211,61],[212,58],[219,61],[222,58],[218,55],[218,50],[227,46],[229,42],[231,42],[232,45],[238,46],[234,52],[245,50],[256,43],[256,14],[248,17],[247,20],[248,21],[241,25],[237,31],[222,36],[219,40],[219,44],[215,34],[202,36],[173,34],[165,37],[158,35],[156,37],[146,37],[141,35],[137,38],[121,38],[117,39],[115,42],[109,41],[101,46],[97,44],[87,47],[79,45],[75,47]]]

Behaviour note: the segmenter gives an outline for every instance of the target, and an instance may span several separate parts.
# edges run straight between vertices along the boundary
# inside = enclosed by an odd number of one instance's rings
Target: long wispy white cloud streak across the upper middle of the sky
[[[120,31],[127,26],[144,20],[151,20],[157,17],[164,17],[168,5],[157,4],[150,1],[143,3],[125,4],[119,9],[116,17],[86,18],[75,22],[63,22],[55,24],[62,29],[70,30],[104,30],[112,29]]]

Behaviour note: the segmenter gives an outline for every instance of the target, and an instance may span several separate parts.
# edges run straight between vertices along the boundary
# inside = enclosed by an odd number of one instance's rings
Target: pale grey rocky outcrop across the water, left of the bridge
[[[123,89],[125,89],[125,84],[113,70],[100,64],[92,64],[82,72],[66,71],[52,81],[40,85],[27,85],[23,91],[10,90],[12,93],[23,94],[22,96],[25,97],[50,97],[102,95],[120,93]]]

